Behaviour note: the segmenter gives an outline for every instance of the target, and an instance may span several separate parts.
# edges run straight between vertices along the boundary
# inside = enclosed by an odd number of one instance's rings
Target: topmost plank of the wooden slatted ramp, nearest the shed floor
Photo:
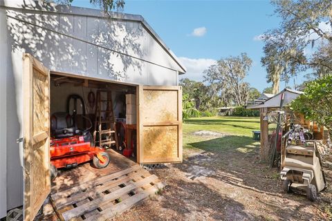
[[[57,200],[59,198],[66,198],[68,195],[72,195],[73,193],[76,193],[77,191],[82,191],[82,190],[89,190],[93,189],[95,186],[102,184],[103,182],[106,182],[107,180],[113,180],[116,179],[117,177],[120,177],[122,175],[125,175],[127,173],[131,173],[133,171],[137,171],[141,169],[141,167],[136,164],[134,166],[131,166],[129,169],[125,169],[123,171],[119,171],[116,173],[111,173],[110,175],[105,175],[104,177],[97,177],[93,180],[89,180],[87,182],[84,182],[82,184],[78,184],[76,186],[71,187],[70,189],[66,189],[64,191],[61,191],[59,193],[54,193],[52,195],[53,200]]]

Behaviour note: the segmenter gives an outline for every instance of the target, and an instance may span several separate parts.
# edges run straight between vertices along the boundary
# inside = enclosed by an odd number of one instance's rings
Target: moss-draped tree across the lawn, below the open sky
[[[246,53],[237,57],[227,57],[217,61],[204,71],[204,81],[216,87],[223,103],[228,106],[246,104],[249,84],[244,81],[252,65],[252,60]]]

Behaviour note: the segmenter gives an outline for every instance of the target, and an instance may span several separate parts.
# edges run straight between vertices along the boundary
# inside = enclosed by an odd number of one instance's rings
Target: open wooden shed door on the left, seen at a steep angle
[[[24,220],[33,220],[50,193],[50,71],[23,59]]]

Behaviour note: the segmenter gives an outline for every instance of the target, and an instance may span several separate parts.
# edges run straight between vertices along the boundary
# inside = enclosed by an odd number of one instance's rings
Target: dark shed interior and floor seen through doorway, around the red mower
[[[102,146],[110,155],[110,163],[104,169],[96,169],[91,161],[58,169],[53,192],[127,169],[137,162],[136,86],[51,73],[50,122],[52,137],[55,133],[68,133],[61,128],[87,130],[91,146]],[[113,133],[100,137],[99,130]]]

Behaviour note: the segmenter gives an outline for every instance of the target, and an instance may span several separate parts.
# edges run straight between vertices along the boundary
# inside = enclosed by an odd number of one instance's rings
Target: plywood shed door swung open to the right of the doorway
[[[182,162],[181,87],[138,86],[137,94],[138,162]]]

